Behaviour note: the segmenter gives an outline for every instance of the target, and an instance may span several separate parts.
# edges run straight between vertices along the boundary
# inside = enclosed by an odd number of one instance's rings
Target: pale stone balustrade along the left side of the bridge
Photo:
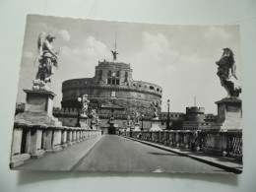
[[[101,135],[99,130],[44,124],[15,123],[10,167],[44,153],[56,153],[68,146]]]

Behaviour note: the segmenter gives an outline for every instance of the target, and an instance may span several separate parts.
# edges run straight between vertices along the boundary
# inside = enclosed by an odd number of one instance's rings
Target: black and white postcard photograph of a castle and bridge
[[[28,15],[12,170],[243,169],[238,25]]]

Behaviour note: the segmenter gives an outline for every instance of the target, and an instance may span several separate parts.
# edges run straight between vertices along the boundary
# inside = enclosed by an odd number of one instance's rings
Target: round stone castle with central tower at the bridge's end
[[[88,95],[91,108],[100,109],[99,116],[106,117],[114,109],[120,118],[133,117],[137,112],[151,118],[152,102],[161,102],[162,89],[148,82],[135,81],[130,64],[98,61],[95,77],[72,79],[62,84],[62,108],[74,107],[79,96]]]

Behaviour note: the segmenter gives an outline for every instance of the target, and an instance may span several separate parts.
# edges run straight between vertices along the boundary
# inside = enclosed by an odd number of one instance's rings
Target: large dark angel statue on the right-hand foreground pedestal
[[[224,53],[219,61],[217,75],[220,77],[221,84],[227,92],[227,98],[238,97],[241,93],[241,86],[236,77],[236,66],[233,52],[229,48],[224,48]]]

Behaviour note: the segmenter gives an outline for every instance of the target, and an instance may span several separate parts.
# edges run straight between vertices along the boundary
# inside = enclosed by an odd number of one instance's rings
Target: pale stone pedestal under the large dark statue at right
[[[239,98],[224,98],[217,101],[218,122],[213,129],[237,130],[242,129],[242,101]]]

